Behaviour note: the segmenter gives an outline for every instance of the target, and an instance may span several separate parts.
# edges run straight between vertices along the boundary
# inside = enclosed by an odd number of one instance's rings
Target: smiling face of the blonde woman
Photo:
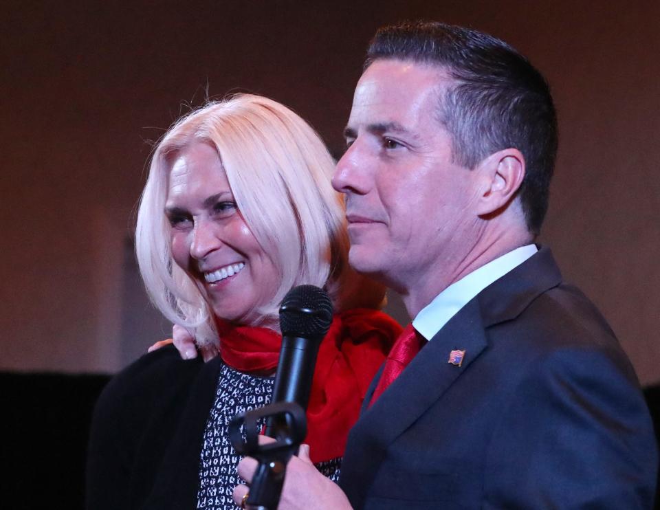
[[[165,214],[172,254],[217,318],[245,324],[279,287],[278,271],[245,224],[220,158],[195,142],[173,160]]]

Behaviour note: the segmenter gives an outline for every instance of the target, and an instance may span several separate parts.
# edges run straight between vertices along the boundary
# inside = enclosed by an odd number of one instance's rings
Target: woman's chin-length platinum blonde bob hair
[[[164,214],[171,164],[195,142],[216,149],[245,223],[281,276],[250,323],[276,323],[278,305],[295,285],[325,287],[341,309],[339,287],[351,270],[343,201],[330,184],[333,159],[296,113],[249,94],[192,111],[155,148],[135,230],[137,261],[155,306],[194,333],[198,344],[218,344],[212,311],[173,260]]]

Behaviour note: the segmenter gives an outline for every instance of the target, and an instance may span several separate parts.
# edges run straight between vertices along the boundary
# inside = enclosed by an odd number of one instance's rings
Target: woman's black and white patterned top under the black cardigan
[[[243,480],[236,473],[241,457],[229,441],[229,422],[239,414],[270,403],[275,379],[244,374],[230,366],[220,369],[215,401],[206,421],[197,508],[234,510],[232,491]],[[331,480],[338,480],[341,458],[319,463],[316,467]]]

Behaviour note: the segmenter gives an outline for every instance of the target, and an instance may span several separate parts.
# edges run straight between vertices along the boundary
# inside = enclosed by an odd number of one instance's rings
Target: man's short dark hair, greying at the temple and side
[[[558,143],[555,108],[540,72],[498,38],[434,21],[380,28],[365,69],[386,58],[446,67],[456,80],[440,98],[438,117],[452,135],[457,163],[474,168],[505,148],[522,153],[527,173],[518,194],[527,228],[538,234]]]

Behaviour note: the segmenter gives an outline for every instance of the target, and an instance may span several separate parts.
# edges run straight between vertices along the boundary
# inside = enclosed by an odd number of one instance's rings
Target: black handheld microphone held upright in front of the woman
[[[332,324],[332,312],[327,292],[314,285],[298,285],[284,297],[280,307],[282,347],[272,403],[296,402],[307,410],[318,348]],[[277,436],[278,428],[277,421],[269,420],[265,433]]]

